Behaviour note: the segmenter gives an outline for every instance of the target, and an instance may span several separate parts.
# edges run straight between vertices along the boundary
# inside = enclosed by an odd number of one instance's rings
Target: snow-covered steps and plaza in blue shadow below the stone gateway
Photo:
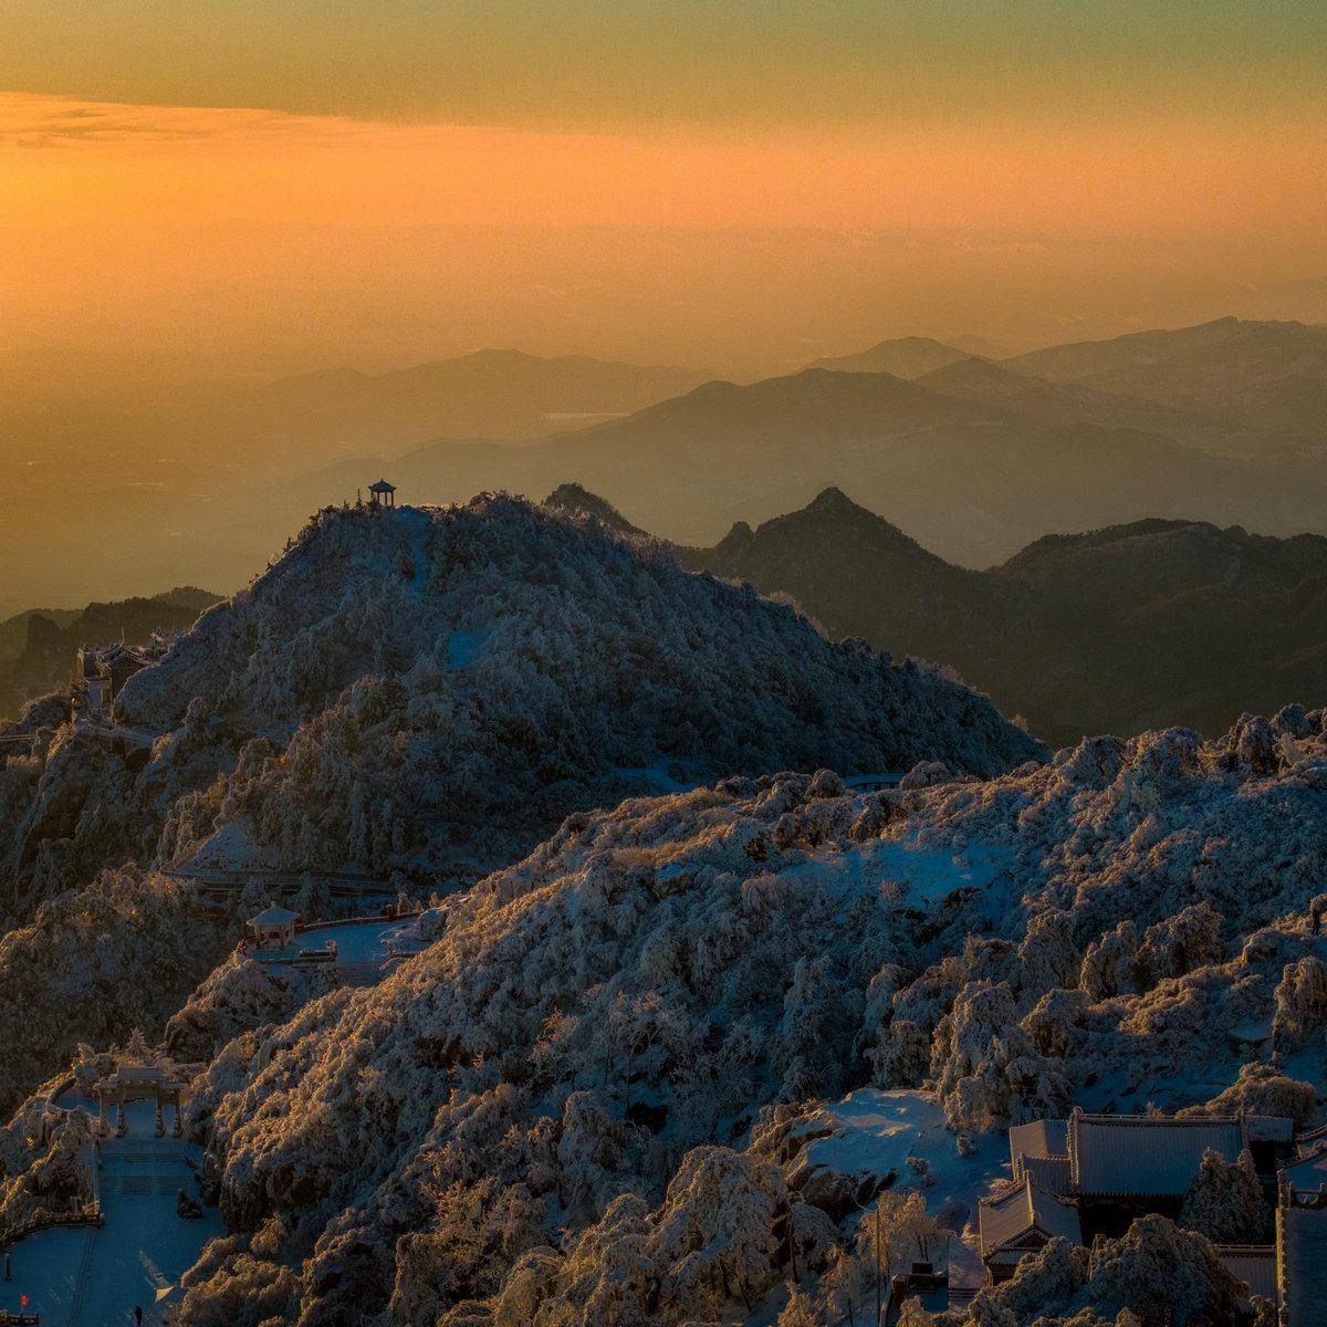
[[[62,1103],[64,1104],[64,1103]],[[129,1132],[102,1143],[101,1229],[46,1230],[12,1250],[13,1281],[3,1285],[0,1307],[41,1315],[42,1327],[109,1327],[165,1322],[179,1278],[208,1239],[223,1233],[220,1216],[204,1209],[199,1221],[175,1214],[179,1189],[194,1193],[187,1157],[196,1153],[182,1139],[154,1137],[151,1103],[126,1111]]]

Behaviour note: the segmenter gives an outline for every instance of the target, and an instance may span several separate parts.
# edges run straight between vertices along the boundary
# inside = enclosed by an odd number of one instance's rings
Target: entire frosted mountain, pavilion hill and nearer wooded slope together
[[[957,1242],[1011,1123],[1320,1121],[1327,711],[1048,759],[563,499],[329,508],[114,725],[5,729],[0,1217],[86,1197],[77,1101],[135,1026],[199,1066],[178,1147],[226,1223],[176,1327],[823,1327],[867,1311],[863,1205],[889,1261]],[[308,872],[305,912],[390,877],[419,951],[362,989],[227,954],[198,863]],[[1149,1217],[942,1322],[1243,1304]]]

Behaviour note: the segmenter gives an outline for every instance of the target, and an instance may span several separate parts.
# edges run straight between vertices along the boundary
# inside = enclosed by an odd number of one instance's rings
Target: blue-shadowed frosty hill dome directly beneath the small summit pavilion
[[[492,867],[633,787],[1038,754],[937,673],[506,496],[322,514],[119,698],[153,731],[191,706],[265,744],[173,851],[235,824],[293,868]]]

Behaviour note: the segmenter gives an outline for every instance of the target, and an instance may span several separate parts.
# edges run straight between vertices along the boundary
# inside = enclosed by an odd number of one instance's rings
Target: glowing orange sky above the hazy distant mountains
[[[1327,318],[1319,5],[54,7],[0,50],[11,389]]]

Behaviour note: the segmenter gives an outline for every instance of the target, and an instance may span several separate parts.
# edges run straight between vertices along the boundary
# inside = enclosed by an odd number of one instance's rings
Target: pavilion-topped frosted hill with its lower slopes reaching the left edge
[[[326,510],[123,687],[114,726],[64,713],[38,702],[3,733],[0,900],[31,925],[0,945],[0,987],[33,1015],[0,1096],[126,1002],[165,1020],[143,991],[176,955],[131,920],[176,908],[154,871],[350,871],[426,894],[632,792],[928,759],[993,774],[1044,755],[936,671],[832,645],[666,549],[504,496]],[[94,893],[70,893],[82,886]],[[70,1015],[64,993],[42,1018],[56,974],[94,950],[117,967],[119,928],[143,941],[133,993],[98,975],[105,998]]]

